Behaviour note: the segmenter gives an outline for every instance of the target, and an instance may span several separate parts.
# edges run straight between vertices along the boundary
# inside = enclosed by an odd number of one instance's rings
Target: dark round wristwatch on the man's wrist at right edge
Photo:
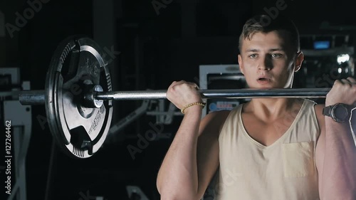
[[[352,108],[345,103],[336,103],[335,105],[324,107],[323,115],[333,118],[335,122],[346,122],[350,120]]]

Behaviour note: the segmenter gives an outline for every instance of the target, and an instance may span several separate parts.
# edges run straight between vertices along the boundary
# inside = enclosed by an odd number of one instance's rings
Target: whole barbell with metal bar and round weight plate
[[[199,90],[201,98],[325,98],[330,88]],[[91,157],[105,141],[112,100],[165,99],[166,90],[112,91],[103,50],[88,37],[70,36],[53,53],[44,90],[19,91],[22,105],[45,105],[58,147],[75,158]]]

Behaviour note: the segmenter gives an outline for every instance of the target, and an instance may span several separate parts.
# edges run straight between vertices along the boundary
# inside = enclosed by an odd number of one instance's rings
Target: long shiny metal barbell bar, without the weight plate
[[[98,85],[95,85],[98,86]],[[273,89],[229,89],[199,90],[201,98],[325,98],[330,88],[273,88]],[[166,99],[167,90],[139,90],[93,92],[83,96],[93,96],[92,100],[154,100]],[[43,105],[44,90],[23,90],[19,93],[22,105]],[[95,106],[93,106],[95,107]]]

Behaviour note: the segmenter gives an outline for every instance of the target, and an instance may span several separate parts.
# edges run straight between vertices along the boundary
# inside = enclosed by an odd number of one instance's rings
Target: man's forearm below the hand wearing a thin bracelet
[[[189,107],[184,115],[157,176],[157,189],[161,196],[197,195],[197,140],[201,107]]]

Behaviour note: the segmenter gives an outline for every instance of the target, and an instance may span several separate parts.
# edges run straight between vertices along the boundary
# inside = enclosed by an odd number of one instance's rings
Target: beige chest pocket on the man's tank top
[[[315,173],[314,142],[282,144],[284,177],[308,177]]]

